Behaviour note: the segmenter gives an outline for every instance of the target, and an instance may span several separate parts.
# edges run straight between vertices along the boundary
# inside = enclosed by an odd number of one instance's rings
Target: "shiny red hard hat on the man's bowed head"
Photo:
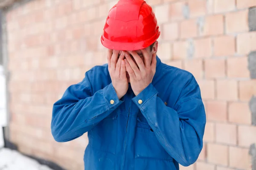
[[[144,0],[119,0],[108,13],[102,45],[114,50],[140,50],[160,36],[157,18]]]

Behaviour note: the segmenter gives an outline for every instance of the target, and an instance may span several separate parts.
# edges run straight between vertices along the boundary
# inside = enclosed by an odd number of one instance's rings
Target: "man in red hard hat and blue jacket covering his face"
[[[85,170],[179,170],[203,147],[206,115],[195,78],[157,57],[160,35],[144,0],[119,0],[95,66],[53,105],[52,135],[67,142],[88,132]]]

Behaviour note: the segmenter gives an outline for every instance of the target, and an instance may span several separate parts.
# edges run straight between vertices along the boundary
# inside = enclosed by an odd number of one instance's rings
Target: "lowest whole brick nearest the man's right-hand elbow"
[[[207,159],[209,163],[228,165],[228,147],[221,144],[207,144]]]

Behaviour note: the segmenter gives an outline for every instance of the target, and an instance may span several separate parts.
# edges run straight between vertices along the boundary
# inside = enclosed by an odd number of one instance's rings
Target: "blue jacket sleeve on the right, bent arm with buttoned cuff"
[[[179,164],[189,166],[195,163],[202,150],[206,124],[198,84],[195,79],[189,80],[174,108],[166,106],[157,94],[150,84],[133,101],[164,149]],[[138,102],[140,99],[143,101],[141,104]]]

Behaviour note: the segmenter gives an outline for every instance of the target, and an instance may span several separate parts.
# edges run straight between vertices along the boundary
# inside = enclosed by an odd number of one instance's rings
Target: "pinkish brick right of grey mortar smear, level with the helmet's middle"
[[[204,28],[201,32],[202,36],[219,35],[224,33],[224,17],[223,15],[211,15],[206,17]]]

